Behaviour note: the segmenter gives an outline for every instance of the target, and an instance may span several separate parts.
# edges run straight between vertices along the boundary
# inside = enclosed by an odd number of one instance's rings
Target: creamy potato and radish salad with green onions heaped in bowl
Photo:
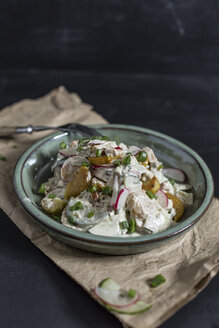
[[[53,177],[39,193],[61,224],[94,235],[135,237],[168,229],[193,204],[178,168],[164,168],[148,146],[91,137],[60,144]]]

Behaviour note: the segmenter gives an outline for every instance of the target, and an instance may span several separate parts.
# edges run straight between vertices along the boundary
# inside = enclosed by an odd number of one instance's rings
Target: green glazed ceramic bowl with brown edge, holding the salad
[[[59,144],[78,139],[77,132],[55,133],[33,144],[18,160],[14,171],[17,196],[30,215],[44,230],[59,241],[90,252],[124,255],[145,252],[159,247],[170,238],[176,238],[196,223],[211,203],[214,193],[212,175],[201,157],[183,143],[162,133],[136,126],[107,124],[92,126],[102,135],[128,145],[151,147],[166,167],[176,167],[186,172],[193,186],[194,204],[185,209],[183,217],[166,231],[129,238],[103,237],[77,231],[54,221],[40,208],[41,196],[37,193],[41,183],[51,177],[51,165]]]

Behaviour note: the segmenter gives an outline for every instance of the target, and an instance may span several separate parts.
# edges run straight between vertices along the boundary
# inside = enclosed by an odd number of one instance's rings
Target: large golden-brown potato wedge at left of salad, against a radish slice
[[[86,166],[81,166],[77,171],[74,178],[68,182],[65,189],[65,198],[70,199],[70,197],[77,197],[80,193],[86,190],[91,183],[91,173],[89,168]]]

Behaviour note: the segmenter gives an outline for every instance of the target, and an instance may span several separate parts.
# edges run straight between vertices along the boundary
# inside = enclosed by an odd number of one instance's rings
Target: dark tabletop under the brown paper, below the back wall
[[[112,123],[141,125],[180,139],[206,160],[219,196],[217,78],[39,70],[2,71],[0,76],[0,107],[65,84]],[[121,327],[37,250],[7,216],[0,212],[0,217],[2,327]],[[216,277],[162,327],[218,327],[218,295]]]

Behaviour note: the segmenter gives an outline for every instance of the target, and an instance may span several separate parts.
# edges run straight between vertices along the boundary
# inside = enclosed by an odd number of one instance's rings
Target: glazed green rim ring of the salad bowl
[[[71,229],[66,227],[54,220],[52,220],[49,216],[47,216],[44,212],[42,212],[34,202],[32,202],[26,191],[23,182],[23,171],[25,169],[25,163],[28,161],[29,157],[33,155],[41,146],[43,146],[47,142],[51,142],[56,139],[60,139],[64,136],[67,136],[66,132],[56,132],[50,134],[34,144],[32,144],[28,149],[26,149],[23,154],[18,159],[13,174],[13,183],[14,188],[17,194],[19,201],[21,202],[24,209],[32,216],[39,224],[46,226],[49,230],[52,230],[53,233],[58,233],[63,235],[67,238],[76,239],[81,242],[88,242],[88,243],[95,243],[95,244],[103,244],[103,245],[110,245],[110,246],[127,246],[127,245],[145,245],[148,243],[159,242],[170,237],[173,237],[181,232],[189,229],[193,224],[195,224],[203,214],[207,211],[208,207],[210,206],[213,196],[214,196],[214,181],[212,178],[212,174],[204,162],[204,160],[190,147],[178,141],[177,139],[170,137],[166,134],[160,133],[158,131],[154,131],[151,129],[138,127],[134,125],[125,125],[125,124],[96,124],[96,125],[89,125],[95,129],[99,129],[100,132],[107,130],[107,129],[122,129],[128,131],[134,131],[137,133],[142,134],[149,134],[152,136],[156,136],[158,138],[164,139],[165,141],[174,144],[178,148],[181,148],[183,151],[189,153],[192,156],[197,164],[199,165],[203,176],[205,178],[206,183],[206,190],[204,199],[199,206],[199,208],[187,219],[182,222],[177,223],[177,225],[168,228],[165,231],[156,233],[156,234],[149,234],[149,235],[142,235],[137,237],[128,237],[128,238],[121,238],[121,237],[108,237],[108,236],[99,236],[99,235],[92,235],[87,232],[78,231],[76,229]],[[24,201],[28,197],[28,201]]]

